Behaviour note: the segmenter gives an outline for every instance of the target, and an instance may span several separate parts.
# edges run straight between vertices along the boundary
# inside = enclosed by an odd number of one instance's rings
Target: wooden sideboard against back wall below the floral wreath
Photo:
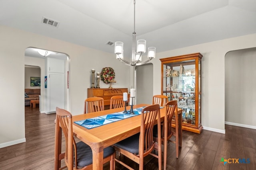
[[[128,93],[128,88],[88,88],[87,89],[87,98],[91,97],[101,97],[104,99],[105,110],[109,109],[110,98],[112,96],[123,96],[123,93]],[[128,93],[128,102],[130,94]]]

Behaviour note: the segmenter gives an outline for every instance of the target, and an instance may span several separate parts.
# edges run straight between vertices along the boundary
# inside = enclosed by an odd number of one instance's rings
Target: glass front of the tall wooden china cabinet
[[[195,60],[164,64],[164,95],[177,100],[182,122],[195,125]]]

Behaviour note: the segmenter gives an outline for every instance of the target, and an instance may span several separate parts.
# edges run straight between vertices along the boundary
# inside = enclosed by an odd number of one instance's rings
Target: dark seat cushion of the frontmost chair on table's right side
[[[130,153],[139,154],[139,139],[140,133],[137,133],[114,144],[114,146],[127,150]]]

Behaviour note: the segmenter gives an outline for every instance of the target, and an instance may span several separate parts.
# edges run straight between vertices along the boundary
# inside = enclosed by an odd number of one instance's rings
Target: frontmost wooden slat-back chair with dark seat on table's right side
[[[162,168],[161,147],[158,150],[158,155],[152,153],[155,144],[153,141],[153,127],[156,123],[156,119],[158,122],[158,127],[161,127],[159,109],[159,104],[144,107],[141,113],[140,133],[132,135],[131,137],[128,137],[113,145],[114,149],[120,154],[123,154],[139,164],[139,170],[143,170],[144,157],[148,154],[158,158],[158,168],[159,170]],[[160,142],[160,140],[158,142]],[[115,162],[119,162],[130,170],[132,169],[118,158],[114,159],[114,168]]]

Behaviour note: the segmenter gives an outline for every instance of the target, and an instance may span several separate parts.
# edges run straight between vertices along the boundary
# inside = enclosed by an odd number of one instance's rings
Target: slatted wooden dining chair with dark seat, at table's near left
[[[69,111],[56,107],[56,125],[55,125],[55,165],[58,162],[58,131],[60,128],[65,137],[65,164],[68,170],[92,169],[92,150],[82,141],[76,143],[73,136],[72,114]],[[114,169],[115,150],[113,147],[106,147],[103,150],[103,164],[110,161],[110,169]],[[55,167],[56,169],[56,167]]]

